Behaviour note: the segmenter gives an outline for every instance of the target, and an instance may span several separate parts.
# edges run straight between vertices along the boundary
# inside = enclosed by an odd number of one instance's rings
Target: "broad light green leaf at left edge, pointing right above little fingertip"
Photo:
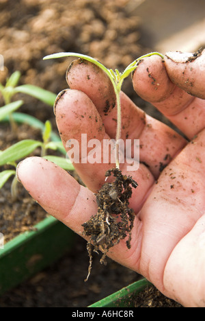
[[[19,141],[1,153],[0,166],[29,156],[39,146],[42,146],[40,141],[33,141],[31,139]]]

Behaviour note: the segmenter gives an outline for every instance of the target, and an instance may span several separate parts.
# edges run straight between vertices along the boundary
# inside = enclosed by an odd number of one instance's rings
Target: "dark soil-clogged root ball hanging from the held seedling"
[[[98,212],[89,221],[83,224],[83,234],[90,237],[87,242],[87,251],[90,257],[88,276],[92,268],[92,246],[94,252],[102,252],[100,263],[105,263],[109,249],[125,239],[127,248],[131,248],[131,231],[135,219],[135,212],[129,205],[132,187],[137,187],[137,182],[131,176],[122,174],[118,168],[109,169],[105,177],[115,177],[113,182],[105,182],[100,191],[96,193]],[[87,281],[87,279],[85,280]]]

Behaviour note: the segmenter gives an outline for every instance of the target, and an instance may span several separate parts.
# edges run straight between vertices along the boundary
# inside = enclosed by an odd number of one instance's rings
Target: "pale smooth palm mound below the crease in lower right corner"
[[[164,285],[184,307],[204,307],[205,215],[177,244],[165,266]]]

